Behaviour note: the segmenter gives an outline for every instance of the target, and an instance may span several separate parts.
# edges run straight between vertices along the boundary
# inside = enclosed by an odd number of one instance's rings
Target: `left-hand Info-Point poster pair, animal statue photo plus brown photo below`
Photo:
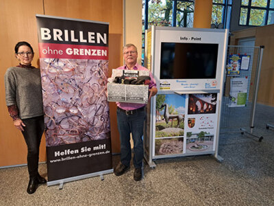
[[[156,95],[155,155],[182,154],[186,95]]]

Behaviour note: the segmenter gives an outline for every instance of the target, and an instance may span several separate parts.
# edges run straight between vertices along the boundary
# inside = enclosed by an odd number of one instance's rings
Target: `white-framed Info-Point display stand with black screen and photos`
[[[151,27],[145,67],[158,94],[147,106],[145,159],[214,155],[218,161],[227,30]]]

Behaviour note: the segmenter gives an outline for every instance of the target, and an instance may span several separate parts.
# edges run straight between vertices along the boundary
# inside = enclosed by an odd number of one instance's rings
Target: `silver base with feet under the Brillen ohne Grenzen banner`
[[[90,173],[90,174],[83,174],[83,175],[79,175],[79,176],[73,176],[73,177],[69,177],[66,179],[58,179],[56,181],[49,181],[47,182],[47,186],[52,186],[52,185],[59,185],[59,190],[62,190],[64,187],[64,183],[68,183],[71,181],[77,181],[80,179],[87,179],[93,176],[100,176],[101,177],[101,181],[103,181],[103,174],[110,174],[113,173],[113,169],[111,170],[103,170],[100,172],[94,172],[94,173]]]

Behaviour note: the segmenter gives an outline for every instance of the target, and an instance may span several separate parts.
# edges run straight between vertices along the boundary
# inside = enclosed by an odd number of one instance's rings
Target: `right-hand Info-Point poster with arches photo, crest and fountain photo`
[[[186,107],[186,154],[214,151],[217,93],[189,94]]]

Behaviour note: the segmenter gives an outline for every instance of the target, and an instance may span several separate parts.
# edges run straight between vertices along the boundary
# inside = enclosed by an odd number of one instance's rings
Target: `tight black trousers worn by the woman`
[[[29,177],[36,177],[38,174],[39,148],[44,132],[44,116],[22,119],[25,124],[23,136],[27,144],[27,169]]]

